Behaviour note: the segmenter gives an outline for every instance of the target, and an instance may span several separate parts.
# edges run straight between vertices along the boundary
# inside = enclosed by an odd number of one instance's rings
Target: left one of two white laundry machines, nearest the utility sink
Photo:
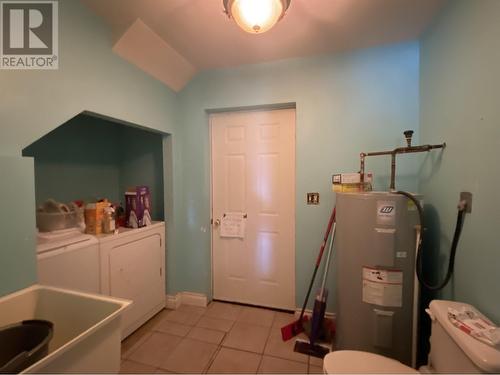
[[[76,229],[40,233],[38,281],[42,285],[101,293],[99,241]]]

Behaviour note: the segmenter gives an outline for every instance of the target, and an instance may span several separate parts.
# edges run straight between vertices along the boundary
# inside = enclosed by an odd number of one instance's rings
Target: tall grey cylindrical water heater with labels
[[[418,213],[385,192],[337,193],[335,348],[416,361]]]

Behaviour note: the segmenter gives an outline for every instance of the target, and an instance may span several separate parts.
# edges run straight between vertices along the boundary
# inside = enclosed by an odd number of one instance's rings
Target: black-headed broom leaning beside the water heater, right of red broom
[[[316,299],[314,300],[314,309],[311,321],[311,333],[309,335],[309,341],[297,339],[295,341],[294,351],[312,355],[314,357],[323,358],[330,352],[329,347],[319,345],[316,343],[320,337],[321,331],[323,329],[323,321],[325,318],[326,310],[326,299],[328,297],[328,290],[325,288],[326,279],[328,277],[328,270],[330,268],[330,257],[332,255],[333,242],[335,240],[335,228],[337,223],[333,223],[332,236],[330,238],[330,245],[328,247],[328,255],[325,263],[325,272],[323,274],[323,282],[321,284],[321,289],[319,290]]]

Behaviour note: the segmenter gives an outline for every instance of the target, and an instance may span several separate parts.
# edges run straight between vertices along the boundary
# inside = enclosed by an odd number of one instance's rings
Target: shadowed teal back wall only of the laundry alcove
[[[79,115],[23,150],[35,159],[37,206],[120,197],[119,127]]]

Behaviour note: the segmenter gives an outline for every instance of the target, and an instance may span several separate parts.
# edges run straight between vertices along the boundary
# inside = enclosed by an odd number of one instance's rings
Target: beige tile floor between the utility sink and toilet
[[[212,302],[163,310],[122,343],[122,373],[322,373],[281,327],[293,314]],[[304,336],[303,336],[304,337]]]

